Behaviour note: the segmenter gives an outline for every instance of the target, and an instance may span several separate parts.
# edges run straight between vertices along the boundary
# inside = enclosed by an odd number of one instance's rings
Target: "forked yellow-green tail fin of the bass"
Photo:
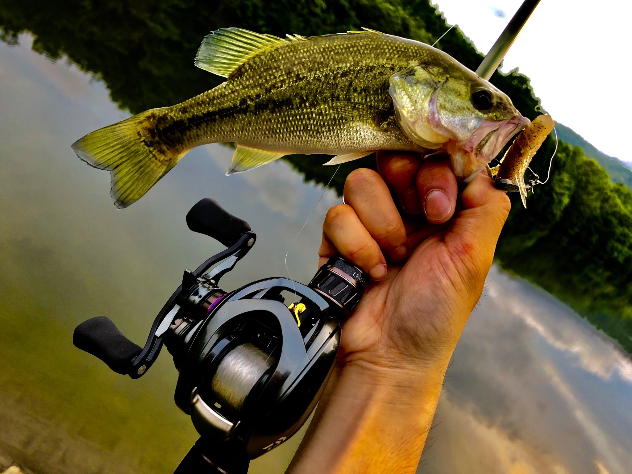
[[[119,209],[150,190],[188,150],[174,149],[156,133],[164,109],[150,109],[80,138],[72,148],[90,166],[107,169]]]

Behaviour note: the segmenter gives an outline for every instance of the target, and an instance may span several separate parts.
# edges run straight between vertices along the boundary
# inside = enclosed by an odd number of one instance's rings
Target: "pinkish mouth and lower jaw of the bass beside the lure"
[[[467,142],[449,140],[444,143],[458,181],[470,182],[529,123],[529,119],[521,114],[503,121],[485,119]]]

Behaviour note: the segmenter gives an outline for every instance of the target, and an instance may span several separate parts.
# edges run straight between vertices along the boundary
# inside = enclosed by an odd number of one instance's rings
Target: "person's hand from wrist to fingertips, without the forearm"
[[[341,365],[447,364],[511,207],[484,173],[458,195],[449,162],[447,155],[422,162],[418,154],[379,152],[379,174],[353,171],[346,204],[327,213],[319,264],[342,255],[376,280],[343,325]]]

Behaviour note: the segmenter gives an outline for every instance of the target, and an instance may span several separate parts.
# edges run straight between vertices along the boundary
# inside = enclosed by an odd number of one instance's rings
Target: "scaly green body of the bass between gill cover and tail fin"
[[[186,147],[240,142],[305,154],[367,145],[419,150],[397,126],[388,88],[390,76],[423,61],[423,53],[419,44],[381,34],[291,42],[255,56],[221,86],[169,107],[161,135]],[[386,114],[382,123],[358,124],[332,105],[340,102]]]

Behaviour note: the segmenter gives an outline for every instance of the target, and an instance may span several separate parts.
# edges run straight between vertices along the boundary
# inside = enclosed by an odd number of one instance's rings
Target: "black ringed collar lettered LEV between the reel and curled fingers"
[[[309,287],[334,303],[348,316],[358,304],[364,289],[367,288],[368,275],[342,257],[331,257],[322,265]]]

